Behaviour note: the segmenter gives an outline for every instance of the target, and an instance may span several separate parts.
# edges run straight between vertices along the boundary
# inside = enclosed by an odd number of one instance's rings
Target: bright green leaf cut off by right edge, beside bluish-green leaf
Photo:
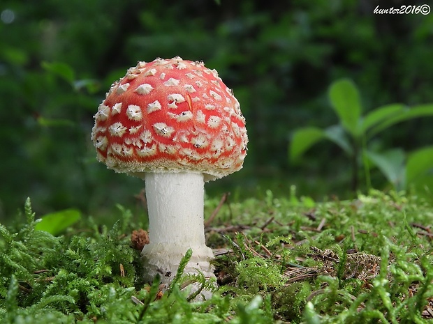
[[[407,183],[417,180],[429,170],[433,170],[433,146],[420,148],[409,155],[406,162]]]

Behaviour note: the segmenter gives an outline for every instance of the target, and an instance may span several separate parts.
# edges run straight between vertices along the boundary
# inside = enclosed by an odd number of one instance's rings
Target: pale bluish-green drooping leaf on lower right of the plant
[[[383,153],[365,151],[369,160],[397,190],[406,187],[405,154],[401,148],[393,148]]]

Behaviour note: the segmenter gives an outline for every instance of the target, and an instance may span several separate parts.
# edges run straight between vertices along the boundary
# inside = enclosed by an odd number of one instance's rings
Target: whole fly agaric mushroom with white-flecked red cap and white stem
[[[109,169],[145,179],[149,244],[145,276],[168,284],[189,248],[185,272],[214,277],[205,244],[204,183],[242,168],[247,130],[239,102],[203,62],[138,62],[112,84],[91,139]]]

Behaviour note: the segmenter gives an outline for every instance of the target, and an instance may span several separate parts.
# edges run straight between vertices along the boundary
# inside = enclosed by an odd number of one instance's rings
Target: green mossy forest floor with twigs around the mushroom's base
[[[35,229],[29,200],[0,225],[1,323],[427,323],[433,318],[433,207],[371,191],[316,203],[294,192],[207,199],[219,288],[210,300],[141,279],[129,210],[61,236]],[[188,254],[184,261],[187,261]],[[209,286],[206,286],[209,285]]]

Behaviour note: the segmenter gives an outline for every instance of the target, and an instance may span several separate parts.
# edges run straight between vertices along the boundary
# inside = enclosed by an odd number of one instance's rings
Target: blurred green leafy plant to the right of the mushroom
[[[433,146],[411,153],[405,153],[401,148],[378,152],[369,143],[392,125],[411,118],[433,116],[433,104],[410,108],[402,104],[391,104],[378,107],[363,116],[360,93],[350,79],[339,79],[332,83],[328,94],[339,124],[324,130],[316,127],[295,130],[289,148],[290,160],[298,160],[318,141],[328,139],[342,148],[351,159],[354,191],[359,186],[358,172],[362,164],[365,167],[367,187],[371,187],[370,164],[377,167],[397,190],[405,189],[407,184],[420,179],[426,181],[423,177],[433,169]]]

